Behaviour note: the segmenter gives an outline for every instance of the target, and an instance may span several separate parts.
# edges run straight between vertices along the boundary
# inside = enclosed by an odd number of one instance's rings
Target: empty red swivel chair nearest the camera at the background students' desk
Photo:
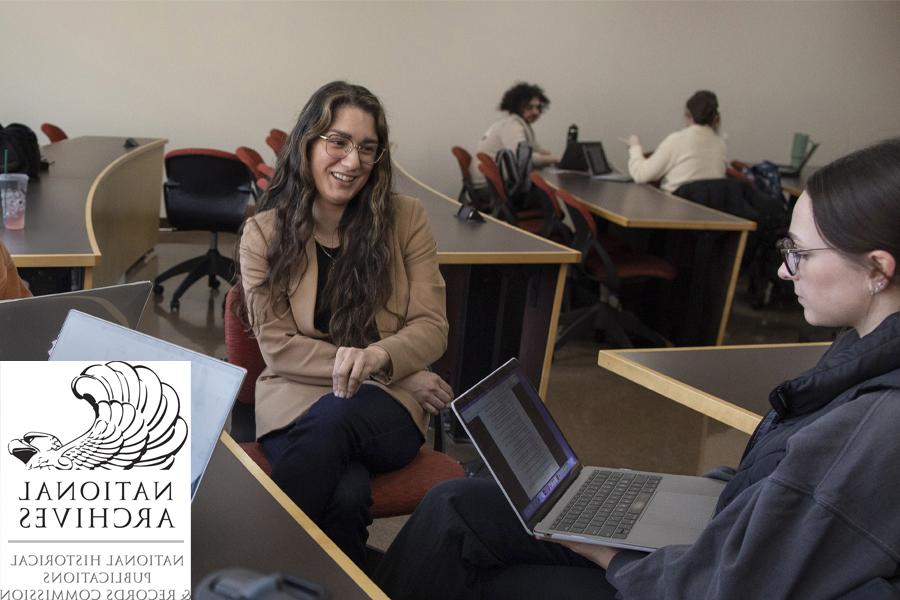
[[[556,190],[569,211],[575,226],[572,247],[581,252],[581,263],[576,268],[577,283],[591,284],[596,288],[596,301],[587,307],[576,308],[560,315],[568,324],[558,333],[555,347],[559,348],[585,323],[592,322],[595,330],[606,333],[607,341],[618,347],[631,348],[629,334],[658,346],[671,345],[668,340],[653,331],[638,318],[622,308],[619,292],[623,282],[636,279],[675,279],[675,267],[668,261],[631,250],[627,246],[604,247],[594,216],[584,203],[565,189]]]

